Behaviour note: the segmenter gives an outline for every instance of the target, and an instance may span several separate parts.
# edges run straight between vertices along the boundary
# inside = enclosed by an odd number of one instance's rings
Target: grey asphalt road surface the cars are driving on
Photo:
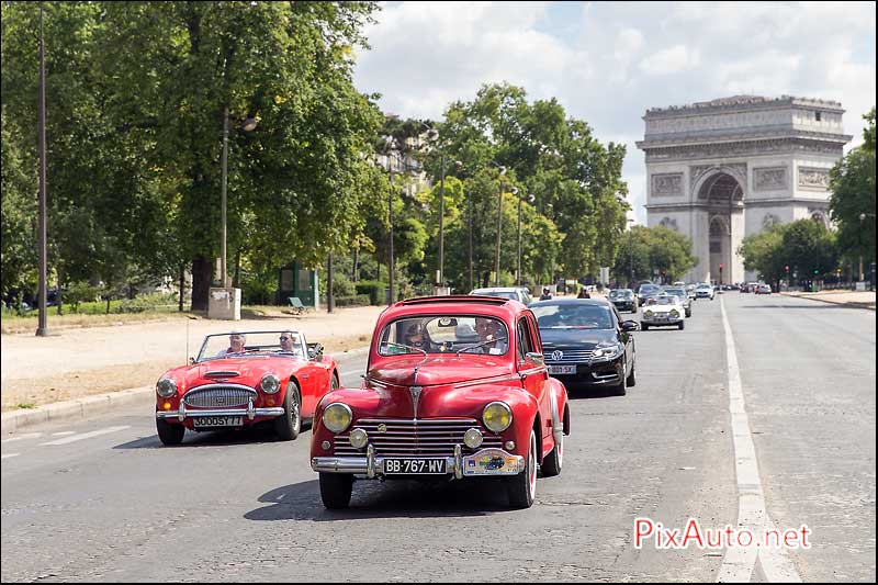
[[[812,532],[789,551],[798,575],[874,582],[875,313],[721,302],[765,508],[779,529]],[[627,396],[571,390],[564,470],[527,510],[485,483],[358,482],[352,507],[328,511],[309,432],[187,435],[169,449],[150,402],[4,436],[2,581],[716,581],[722,552],[637,549],[633,522],[738,522],[719,297],[695,303],[685,330],[635,342]],[[362,367],[346,363],[342,383]]]

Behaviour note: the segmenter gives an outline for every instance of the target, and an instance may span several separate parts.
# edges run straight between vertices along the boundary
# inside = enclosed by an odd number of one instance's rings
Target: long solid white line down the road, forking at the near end
[[[750,431],[744,392],[741,389],[741,372],[738,369],[738,355],[734,349],[732,328],[725,305],[720,297],[722,325],[725,329],[725,356],[729,363],[729,413],[732,418],[732,441],[734,445],[735,476],[738,479],[738,528],[747,529],[759,538],[766,529],[774,528],[765,509],[765,494],[759,477],[756,448]],[[759,556],[762,555],[762,556]],[[785,549],[757,549],[755,547],[733,547],[725,551],[725,558],[717,575],[717,583],[748,583],[753,575],[756,559],[761,558],[762,569],[769,582],[801,583],[801,577],[789,560]]]

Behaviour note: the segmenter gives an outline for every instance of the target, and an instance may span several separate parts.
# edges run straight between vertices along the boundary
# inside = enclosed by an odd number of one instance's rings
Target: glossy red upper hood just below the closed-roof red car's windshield
[[[426,360],[421,356],[396,357],[369,370],[371,380],[394,386],[457,384],[511,374],[511,364],[493,356],[431,356]]]

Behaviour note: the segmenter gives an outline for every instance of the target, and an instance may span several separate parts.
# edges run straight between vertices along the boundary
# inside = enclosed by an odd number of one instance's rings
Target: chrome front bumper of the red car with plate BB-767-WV
[[[474,465],[470,465],[470,462],[475,463],[480,458],[482,458],[485,453],[494,453],[499,452],[503,457],[511,458],[515,460],[515,464],[508,468],[507,470],[497,470],[494,472],[484,472],[475,475],[473,473],[468,473],[466,468],[472,468]],[[311,458],[311,469],[320,472],[320,473],[348,473],[348,474],[357,474],[357,475],[365,475],[368,479],[372,480],[378,475],[384,474],[384,460],[385,459],[404,459],[404,458],[384,458],[381,455],[375,455],[375,448],[374,446],[370,445],[367,447],[367,454],[365,457],[313,457]],[[410,458],[410,459],[418,459],[418,458]],[[423,459],[430,459],[429,457],[424,457]],[[521,455],[515,455],[508,453],[502,449],[483,449],[482,451],[477,451],[472,455],[463,455],[463,451],[460,445],[454,446],[454,454],[452,457],[444,458],[446,460],[446,475],[453,475],[455,480],[461,480],[465,476],[492,476],[492,475],[516,475],[521,473],[525,470],[525,458]],[[441,477],[442,475],[437,474],[425,474],[425,475],[398,475],[401,479],[406,477]]]

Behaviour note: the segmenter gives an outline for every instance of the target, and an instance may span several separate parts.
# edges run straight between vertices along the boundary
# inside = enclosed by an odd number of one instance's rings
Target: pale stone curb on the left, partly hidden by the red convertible
[[[347,361],[361,358],[369,353],[369,348],[351,349],[334,356],[336,362],[340,365]],[[55,402],[52,404],[44,404],[37,408],[20,408],[0,415],[0,432],[3,435],[8,432],[15,432],[20,428],[29,427],[40,423],[48,423],[63,419],[85,418],[86,416],[104,414],[117,409],[120,406],[136,403],[138,401],[146,402],[146,397],[151,398],[154,393],[153,385],[134,387],[128,390],[120,390],[116,392],[109,392],[106,394],[97,394],[94,396],[87,396],[85,398],[77,398],[75,401]]]

